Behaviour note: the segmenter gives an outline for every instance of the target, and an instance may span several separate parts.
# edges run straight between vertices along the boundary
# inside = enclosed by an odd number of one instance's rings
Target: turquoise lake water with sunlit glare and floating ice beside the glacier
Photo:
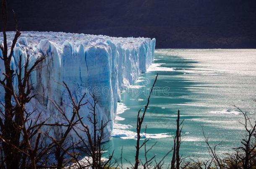
[[[134,161],[136,116],[146,104],[149,88],[159,74],[155,93],[150,99],[144,120],[147,147],[156,141],[149,157],[161,159],[173,145],[178,109],[184,119],[180,154],[183,157],[209,158],[202,127],[211,144],[222,141],[217,149],[224,154],[238,146],[243,136],[243,116],[231,104],[256,114],[256,50],[254,49],[158,49],[153,66],[139,81],[122,94],[127,110],[115,121],[114,137],[105,146],[115,149],[119,158],[123,146],[123,163]],[[124,107],[123,105],[123,107]],[[121,105],[122,106],[122,105]],[[122,137],[120,137],[122,136]],[[141,149],[143,153],[144,149]],[[171,156],[171,154],[170,154]],[[171,159],[167,156],[165,164]],[[127,161],[126,161],[126,160]],[[143,154],[141,154],[143,160]]]

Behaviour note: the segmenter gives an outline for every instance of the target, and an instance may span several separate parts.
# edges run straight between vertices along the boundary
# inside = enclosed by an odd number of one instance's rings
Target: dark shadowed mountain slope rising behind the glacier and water
[[[256,48],[255,0],[8,0],[21,30],[157,38],[157,48]],[[8,30],[13,30],[9,12]]]

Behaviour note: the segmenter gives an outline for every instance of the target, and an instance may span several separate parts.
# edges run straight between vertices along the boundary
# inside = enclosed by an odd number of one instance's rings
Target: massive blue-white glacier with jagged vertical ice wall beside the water
[[[8,32],[13,39],[14,32]],[[0,40],[3,37],[0,36]],[[2,42],[1,42],[2,43]],[[11,42],[9,41],[10,45]],[[123,90],[136,81],[140,73],[146,71],[154,57],[155,39],[150,38],[114,38],[104,35],[86,35],[62,32],[22,32],[13,53],[11,67],[16,70],[17,59],[31,55],[31,63],[38,57],[47,55],[42,66],[31,75],[34,93],[38,97],[29,106],[39,104],[41,110],[52,121],[60,121],[51,100],[71,111],[70,98],[61,85],[64,81],[76,99],[86,92],[86,99],[92,101],[89,93],[94,93],[99,101],[97,118],[113,120],[117,103]],[[2,54],[1,54],[2,55]],[[0,62],[1,78],[4,72]],[[16,81],[14,80],[14,85]],[[3,90],[0,98],[3,100]],[[81,109],[84,121],[89,109]],[[106,132],[112,131],[112,123]]]

